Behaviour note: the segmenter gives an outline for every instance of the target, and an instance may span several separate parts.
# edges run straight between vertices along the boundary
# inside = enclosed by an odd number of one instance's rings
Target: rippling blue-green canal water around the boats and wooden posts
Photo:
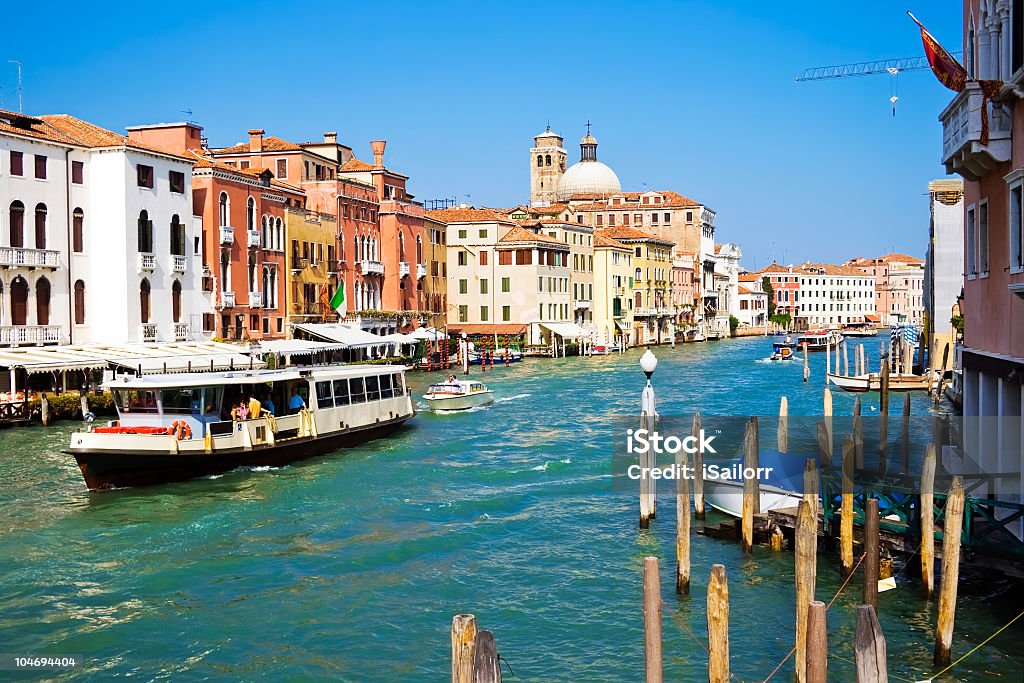
[[[757,338],[654,349],[660,412],[768,415],[784,393],[792,415],[820,414],[823,355],[804,384],[799,362],[757,361],[769,351]],[[354,451],[146,489],[87,493],[60,453],[76,424],[0,432],[0,650],[84,655],[56,680],[442,681],[452,616],[473,612],[510,680],[636,681],[642,558],[656,555],[667,680],[707,677],[713,563],[729,573],[735,677],[763,680],[793,642],[793,555],[694,537],[692,594],[676,597],[672,497],[641,531],[636,495],[611,485],[607,425],[637,412],[638,358],[496,368],[489,408],[421,412]],[[410,384],[419,395],[431,378]],[[837,392],[837,414],[852,404]],[[880,618],[893,678],[916,681],[934,672],[936,607],[908,573],[880,596]],[[818,598],[840,583],[823,554]],[[854,678],[859,593],[858,577],[828,611],[833,680]],[[954,656],[1020,597],[1002,580],[965,583]],[[938,680],[1021,680],[1020,626]],[[774,680],[792,680],[792,660]]]

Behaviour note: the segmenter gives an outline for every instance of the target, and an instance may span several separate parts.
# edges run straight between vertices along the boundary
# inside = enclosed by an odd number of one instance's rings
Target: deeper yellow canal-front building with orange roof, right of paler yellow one
[[[596,234],[633,250],[633,343],[660,344],[675,334],[672,308],[672,247],[669,240],[620,225]]]

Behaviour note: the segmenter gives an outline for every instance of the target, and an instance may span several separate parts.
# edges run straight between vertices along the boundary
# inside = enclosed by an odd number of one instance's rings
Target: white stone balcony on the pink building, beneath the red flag
[[[1010,161],[1010,115],[988,102],[988,144],[981,143],[981,86],[968,82],[939,115],[942,122],[942,163],[946,173],[980,180],[996,165]]]

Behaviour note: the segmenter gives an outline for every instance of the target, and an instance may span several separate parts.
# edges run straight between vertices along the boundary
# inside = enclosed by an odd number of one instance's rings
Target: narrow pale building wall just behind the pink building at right
[[[932,180],[931,223],[925,258],[925,311],[931,368],[952,365],[953,305],[964,290],[964,180]],[[948,346],[948,350],[946,349]]]

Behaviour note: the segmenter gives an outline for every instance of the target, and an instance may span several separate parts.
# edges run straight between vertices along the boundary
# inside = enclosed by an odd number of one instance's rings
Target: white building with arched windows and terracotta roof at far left
[[[0,275],[0,344],[200,338],[191,163],[68,115],[0,124],[0,259],[42,261]]]

